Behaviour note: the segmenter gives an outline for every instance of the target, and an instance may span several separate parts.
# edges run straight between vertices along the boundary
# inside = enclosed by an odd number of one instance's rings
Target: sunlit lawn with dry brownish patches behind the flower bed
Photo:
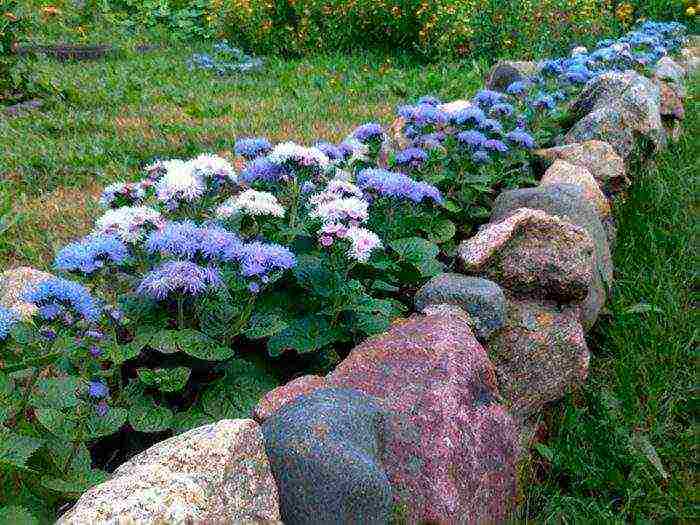
[[[473,94],[485,68],[358,54],[270,59],[259,73],[221,79],[190,71],[192,52],[39,63],[64,96],[0,118],[0,268],[49,268],[56,248],[86,233],[101,187],[140,178],[156,157],[225,153],[245,136],[337,141],[368,120],[390,123],[398,104],[421,95]]]

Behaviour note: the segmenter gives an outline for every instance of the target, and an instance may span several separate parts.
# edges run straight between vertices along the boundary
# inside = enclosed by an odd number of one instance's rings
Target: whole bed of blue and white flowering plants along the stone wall
[[[450,264],[453,239],[483,220],[490,198],[533,180],[527,150],[554,139],[576,86],[610,67],[644,68],[661,51],[632,40],[595,53],[552,61],[505,96],[480,91],[470,107],[415,96],[398,110],[408,141],[398,151],[386,125],[368,122],[332,143],[310,133],[308,145],[226,130],[217,149],[228,158],[200,155],[196,129],[161,160],[124,155],[115,164],[129,180],[105,188],[93,232],[52,265],[83,284],[31,292],[35,326],[3,318],[13,325],[6,442],[23,451],[9,475],[28,506],[37,490],[70,499],[123,459],[89,461],[88,444],[128,454],[160,432],[246,413],[286,378],[256,359],[261,346],[306,355],[286,374],[323,371],[338,349],[385,329]],[[27,173],[10,184],[26,185]],[[22,395],[27,380],[40,399]]]

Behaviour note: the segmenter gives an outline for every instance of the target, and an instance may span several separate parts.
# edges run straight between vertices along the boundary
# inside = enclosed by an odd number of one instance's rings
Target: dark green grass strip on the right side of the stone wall
[[[535,522],[697,522],[697,78],[680,143],[631,175],[586,387],[547,418]]]

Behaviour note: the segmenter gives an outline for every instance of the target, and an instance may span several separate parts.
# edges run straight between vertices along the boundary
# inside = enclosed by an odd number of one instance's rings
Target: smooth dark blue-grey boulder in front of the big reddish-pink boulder
[[[385,417],[370,396],[329,388],[296,398],[263,423],[286,525],[389,522]]]

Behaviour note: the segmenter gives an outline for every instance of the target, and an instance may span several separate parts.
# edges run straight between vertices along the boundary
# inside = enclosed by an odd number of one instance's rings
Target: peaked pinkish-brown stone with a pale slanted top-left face
[[[521,208],[483,227],[457,249],[469,273],[526,297],[581,301],[593,280],[594,246],[583,228]]]

